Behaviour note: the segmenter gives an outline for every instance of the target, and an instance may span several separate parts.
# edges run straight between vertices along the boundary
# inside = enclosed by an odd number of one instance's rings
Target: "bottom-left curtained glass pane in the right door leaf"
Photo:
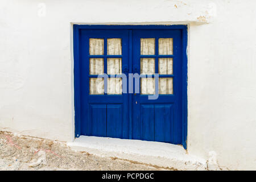
[[[155,78],[141,78],[141,94],[155,94]]]

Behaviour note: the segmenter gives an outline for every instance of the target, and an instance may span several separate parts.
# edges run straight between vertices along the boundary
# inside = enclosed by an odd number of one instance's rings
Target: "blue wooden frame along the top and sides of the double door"
[[[75,104],[75,137],[81,134],[81,104],[80,104],[80,30],[82,29],[151,29],[151,30],[181,30],[182,34],[182,144],[187,149],[187,126],[188,126],[188,98],[187,98],[187,43],[188,27],[187,25],[89,25],[73,24],[73,56],[74,56],[74,104]]]

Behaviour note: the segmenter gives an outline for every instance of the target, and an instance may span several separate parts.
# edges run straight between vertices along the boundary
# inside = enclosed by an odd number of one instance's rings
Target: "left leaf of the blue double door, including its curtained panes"
[[[81,30],[80,34],[81,135],[128,138],[128,94],[122,93],[122,78],[115,77],[128,73],[129,32]]]

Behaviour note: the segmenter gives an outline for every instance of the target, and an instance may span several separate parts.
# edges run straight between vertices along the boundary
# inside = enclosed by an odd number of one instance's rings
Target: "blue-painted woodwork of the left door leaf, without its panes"
[[[81,29],[80,35],[80,134],[98,137],[129,138],[128,94],[89,94],[89,78],[97,77],[97,75],[89,75],[90,57],[104,58],[104,73],[107,73],[107,59],[109,57],[121,57],[122,65],[129,65],[129,31]],[[104,39],[104,55],[89,55],[90,38]],[[122,56],[107,55],[108,38],[122,39]],[[128,72],[125,74],[128,74]],[[110,77],[110,75],[108,76]],[[106,88],[106,79],[104,85]]]

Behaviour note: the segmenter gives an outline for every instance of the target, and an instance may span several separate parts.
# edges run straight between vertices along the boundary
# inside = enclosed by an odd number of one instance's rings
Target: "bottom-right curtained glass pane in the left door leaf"
[[[108,94],[122,94],[122,78],[108,78]]]

